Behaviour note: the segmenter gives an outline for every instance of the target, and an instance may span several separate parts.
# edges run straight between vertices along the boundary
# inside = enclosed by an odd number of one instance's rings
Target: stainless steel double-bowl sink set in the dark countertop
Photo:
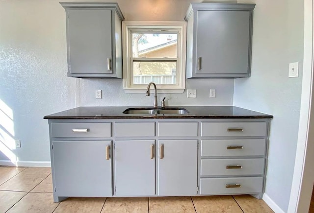
[[[189,112],[184,108],[129,108],[124,114],[134,115],[187,115]]]

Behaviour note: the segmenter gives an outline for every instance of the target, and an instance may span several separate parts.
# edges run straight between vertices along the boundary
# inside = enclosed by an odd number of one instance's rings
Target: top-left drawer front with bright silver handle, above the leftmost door
[[[52,123],[52,137],[111,137],[111,122]]]

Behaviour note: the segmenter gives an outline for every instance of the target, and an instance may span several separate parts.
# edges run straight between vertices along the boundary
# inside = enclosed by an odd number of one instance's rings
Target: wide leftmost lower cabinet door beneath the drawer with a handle
[[[58,196],[112,196],[111,141],[53,141],[52,146]]]

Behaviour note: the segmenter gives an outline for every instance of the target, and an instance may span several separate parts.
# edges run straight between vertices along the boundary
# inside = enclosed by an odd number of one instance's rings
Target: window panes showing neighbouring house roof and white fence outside
[[[134,84],[176,84],[177,37],[176,33],[132,34]]]

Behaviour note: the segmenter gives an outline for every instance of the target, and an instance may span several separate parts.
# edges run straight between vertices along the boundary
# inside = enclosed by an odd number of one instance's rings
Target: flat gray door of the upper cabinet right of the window
[[[196,76],[248,73],[251,41],[249,11],[200,10],[197,11],[196,24]]]

